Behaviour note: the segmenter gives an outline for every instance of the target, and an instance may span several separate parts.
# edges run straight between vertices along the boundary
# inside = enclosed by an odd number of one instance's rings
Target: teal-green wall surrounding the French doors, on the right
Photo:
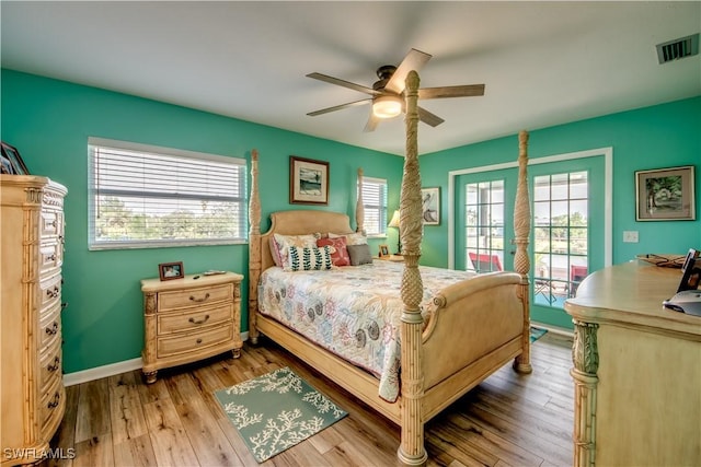
[[[529,130],[531,159],[590,149],[613,148],[613,264],[641,253],[686,253],[701,248],[701,96],[556,127]],[[516,135],[426,154],[421,157],[424,186],[441,186],[448,206],[448,172],[514,162]],[[696,221],[636,222],[635,171],[696,166]],[[422,262],[448,265],[448,213],[439,226],[424,229]],[[623,231],[637,231],[639,243],[623,243]]]

